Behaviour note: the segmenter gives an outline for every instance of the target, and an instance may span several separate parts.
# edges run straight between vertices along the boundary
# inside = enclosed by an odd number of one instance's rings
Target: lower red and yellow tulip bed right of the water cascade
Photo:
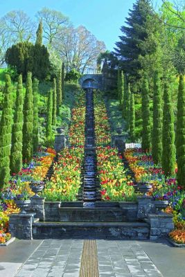
[[[116,148],[98,147],[97,168],[100,177],[101,196],[103,200],[135,201],[133,181],[123,170],[122,157],[118,156]]]

